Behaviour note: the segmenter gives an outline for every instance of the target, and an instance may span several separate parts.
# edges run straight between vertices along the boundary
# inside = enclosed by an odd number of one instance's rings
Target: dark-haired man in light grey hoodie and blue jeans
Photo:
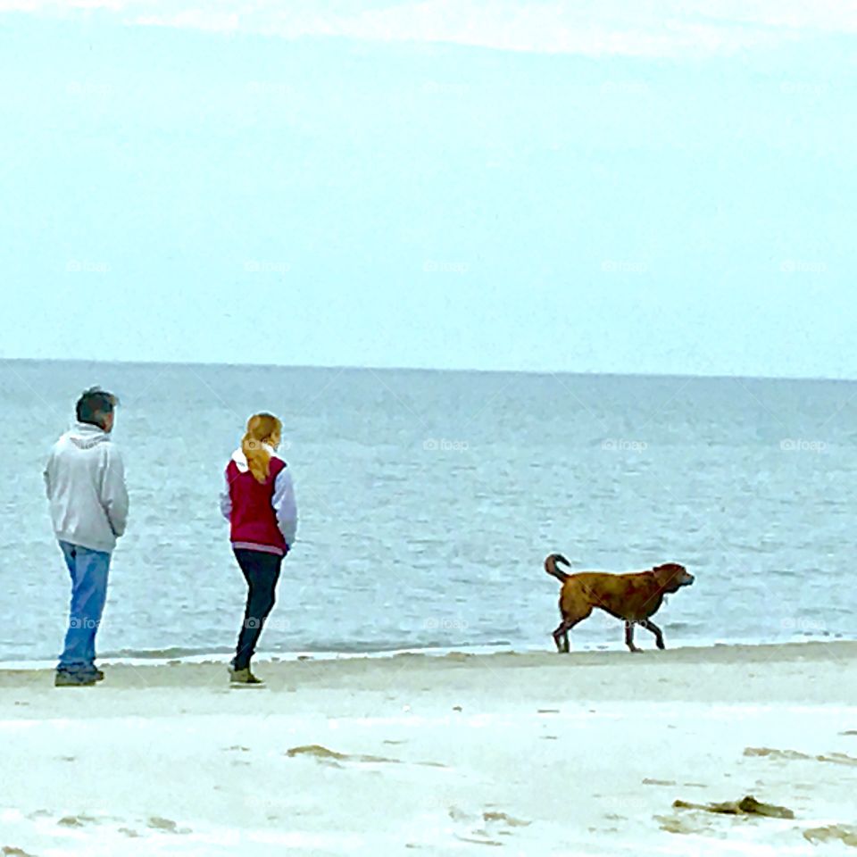
[[[116,396],[97,387],[77,404],[77,423],[54,444],[45,468],[54,534],[71,574],[71,616],[56,668],[58,687],[91,686],[96,632],[107,596],[116,539],[125,532],[128,492],[119,450],[110,439]]]

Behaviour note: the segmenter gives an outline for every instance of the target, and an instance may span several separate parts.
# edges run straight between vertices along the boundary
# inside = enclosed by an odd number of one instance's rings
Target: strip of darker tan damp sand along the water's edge
[[[150,687],[195,686],[223,689],[228,685],[229,658],[201,657],[195,661],[169,660],[163,663],[127,663],[104,661],[108,679],[97,690],[128,690]],[[101,661],[99,661],[101,662]],[[795,668],[812,670],[825,668],[818,676],[810,673],[811,684],[795,680],[782,683],[779,675],[768,680],[767,666],[783,670]],[[738,670],[736,677],[731,674]],[[773,645],[712,645],[684,647],[641,653],[611,652],[495,652],[469,653],[452,651],[444,654],[403,652],[385,657],[315,658],[297,656],[293,659],[256,659],[254,671],[268,681],[274,690],[295,692],[302,687],[336,686],[344,678],[360,678],[362,689],[378,689],[391,678],[405,674],[425,675],[443,680],[443,690],[456,692],[466,689],[471,678],[507,676],[509,680],[526,680],[547,695],[562,694],[555,687],[563,672],[573,677],[569,688],[586,690],[593,698],[623,698],[628,686],[645,678],[645,686],[634,698],[687,699],[703,701],[735,701],[766,698],[775,702],[811,699],[814,703],[857,704],[857,682],[854,688],[845,685],[837,670],[853,670],[857,678],[857,641],[836,643],[787,643]],[[609,678],[615,673],[616,678]],[[41,669],[4,669],[0,667],[0,692],[13,688],[50,686],[53,665]],[[602,676],[604,678],[602,678]],[[656,678],[655,678],[656,677]],[[708,679],[737,678],[724,684],[705,685]],[[597,678],[594,682],[592,678]],[[661,685],[654,688],[651,679]],[[820,679],[825,679],[823,682]],[[221,687],[223,686],[223,687]],[[692,691],[692,692],[690,692]],[[766,696],[767,695],[767,696]]]

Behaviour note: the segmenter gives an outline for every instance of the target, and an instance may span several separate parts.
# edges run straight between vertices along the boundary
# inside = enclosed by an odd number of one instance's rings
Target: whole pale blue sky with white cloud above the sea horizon
[[[857,5],[0,0],[0,358],[857,378]]]

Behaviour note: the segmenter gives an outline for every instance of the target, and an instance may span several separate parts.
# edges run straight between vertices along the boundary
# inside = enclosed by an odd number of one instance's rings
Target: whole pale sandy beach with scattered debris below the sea
[[[0,670],[0,853],[857,853],[857,643],[104,670]]]

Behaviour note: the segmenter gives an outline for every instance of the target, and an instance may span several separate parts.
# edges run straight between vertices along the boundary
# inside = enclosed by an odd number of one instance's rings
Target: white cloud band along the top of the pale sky
[[[728,4],[688,10],[679,0],[661,6],[659,13],[640,12],[633,4],[630,16],[616,20],[621,0],[594,14],[577,0],[564,6],[539,7],[485,0],[409,0],[379,8],[348,12],[319,12],[304,3],[284,17],[276,8],[233,0],[226,8],[203,9],[193,4],[163,8],[157,0],[79,0],[71,8],[62,0],[0,0],[0,14],[16,14],[38,21],[100,20],[129,29],[171,29],[205,33],[277,37],[342,36],[375,43],[459,45],[487,47],[526,54],[567,54],[608,59],[617,56],[696,60],[700,56],[731,58],[749,51],[789,46],[808,37],[853,35],[857,15],[836,0],[808,8],[785,10],[775,0],[762,0],[740,12]],[[626,10],[623,10],[626,11]],[[664,25],[667,26],[664,26]]]

